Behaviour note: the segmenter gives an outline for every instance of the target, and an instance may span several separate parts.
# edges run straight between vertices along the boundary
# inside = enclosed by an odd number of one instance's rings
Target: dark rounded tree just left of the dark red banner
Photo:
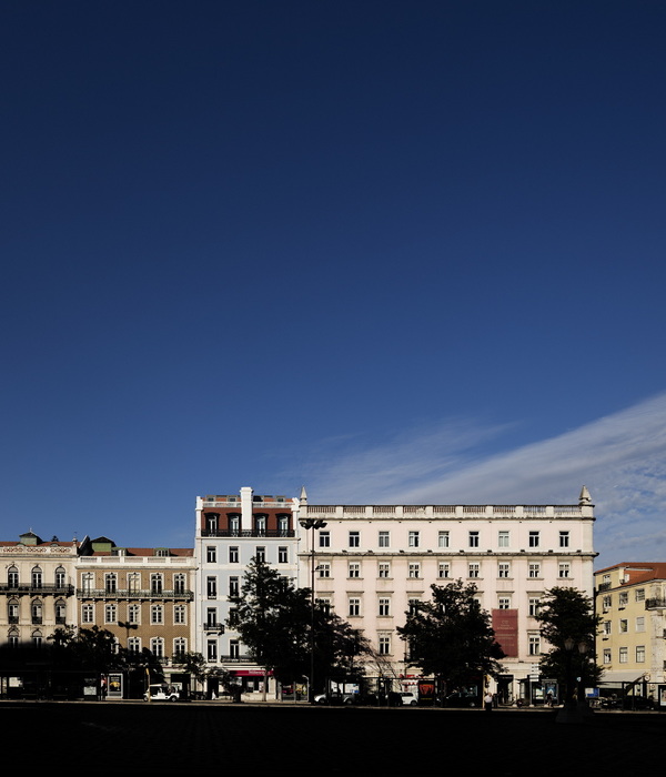
[[[497,675],[504,654],[495,642],[488,613],[475,598],[476,586],[458,579],[431,589],[432,601],[420,602],[397,628],[408,644],[410,662],[424,675],[445,683],[448,690],[478,683],[484,675]]]

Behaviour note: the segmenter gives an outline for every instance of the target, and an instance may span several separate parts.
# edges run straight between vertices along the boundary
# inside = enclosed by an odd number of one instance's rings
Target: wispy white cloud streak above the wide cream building
[[[666,394],[484,455],[506,431],[448,420],[362,450],[320,451],[309,491],[320,503],[572,504],[585,484],[596,504],[597,566],[664,559]]]

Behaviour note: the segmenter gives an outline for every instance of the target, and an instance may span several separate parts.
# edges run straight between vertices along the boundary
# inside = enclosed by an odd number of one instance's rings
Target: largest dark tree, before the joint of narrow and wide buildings
[[[320,682],[357,676],[361,667],[354,659],[369,649],[367,639],[349,623],[316,602],[312,607],[310,588],[296,588],[256,558],[245,569],[239,606],[228,625],[281,683],[310,676],[313,643]]]

